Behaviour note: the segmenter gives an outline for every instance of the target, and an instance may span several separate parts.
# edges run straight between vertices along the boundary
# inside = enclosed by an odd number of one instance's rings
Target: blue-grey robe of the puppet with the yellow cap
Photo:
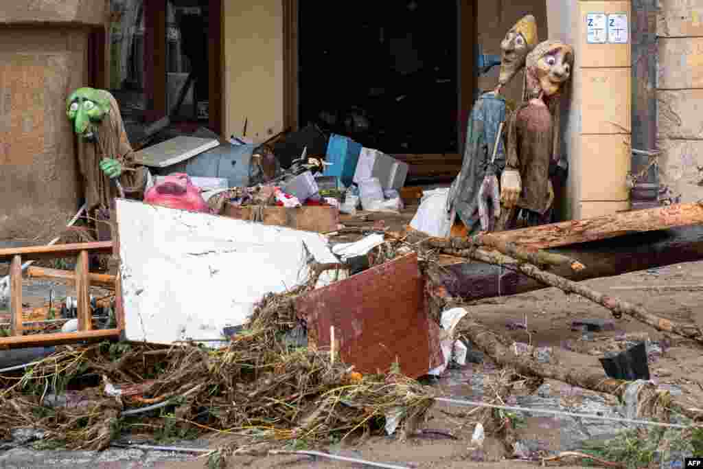
[[[447,211],[456,210],[470,232],[480,229],[478,193],[486,172],[498,174],[505,167],[503,139],[498,143],[494,165],[490,165],[498,127],[505,121],[505,113],[505,98],[486,93],[479,96],[469,117],[461,172],[449,191]]]

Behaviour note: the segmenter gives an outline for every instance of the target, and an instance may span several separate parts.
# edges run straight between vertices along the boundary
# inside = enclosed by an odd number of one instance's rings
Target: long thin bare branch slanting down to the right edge
[[[480,249],[472,252],[472,257],[482,262],[490,262],[494,264],[515,263],[515,259],[512,259],[511,257],[501,255],[497,252],[486,252]],[[560,290],[563,290],[566,293],[576,293],[576,295],[586,297],[588,298],[588,300],[591,300],[595,303],[600,304],[603,307],[606,307],[607,309],[610,309],[611,311],[613,311],[616,317],[619,317],[621,314],[627,314],[628,316],[632,316],[634,319],[637,319],[638,321],[643,322],[648,326],[652,326],[653,328],[662,332],[681,335],[681,337],[692,339],[698,342],[699,344],[703,344],[703,330],[701,330],[701,328],[699,328],[695,324],[682,324],[677,323],[676,321],[670,321],[669,319],[664,319],[659,316],[655,316],[643,307],[640,307],[636,304],[619,300],[615,297],[603,295],[602,293],[599,293],[593,290],[592,288],[588,288],[586,285],[567,280],[566,278],[550,274],[549,272],[542,271],[534,265],[516,264],[513,268],[518,269],[523,274],[534,278],[535,280],[538,280],[546,285],[559,288]]]

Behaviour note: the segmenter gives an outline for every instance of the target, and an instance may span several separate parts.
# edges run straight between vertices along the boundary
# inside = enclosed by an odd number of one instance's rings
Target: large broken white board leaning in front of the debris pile
[[[131,200],[117,224],[127,340],[222,338],[266,293],[306,281],[309,255],[339,262],[318,233]]]

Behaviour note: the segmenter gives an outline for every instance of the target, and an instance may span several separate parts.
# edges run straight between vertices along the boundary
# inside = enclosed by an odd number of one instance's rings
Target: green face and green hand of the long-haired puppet
[[[73,130],[79,139],[91,143],[98,143],[100,125],[109,113],[110,95],[101,89],[79,88],[66,99],[66,114]],[[122,174],[122,165],[114,158],[104,158],[100,168],[110,179]]]

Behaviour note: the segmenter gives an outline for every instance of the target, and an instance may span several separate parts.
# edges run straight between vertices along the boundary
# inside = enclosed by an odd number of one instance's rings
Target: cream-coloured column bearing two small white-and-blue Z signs
[[[566,216],[581,219],[627,210],[631,1],[547,0],[547,6],[550,39],[572,44],[576,51],[572,96],[562,122],[562,151],[569,159]],[[595,32],[601,22],[604,30]]]

